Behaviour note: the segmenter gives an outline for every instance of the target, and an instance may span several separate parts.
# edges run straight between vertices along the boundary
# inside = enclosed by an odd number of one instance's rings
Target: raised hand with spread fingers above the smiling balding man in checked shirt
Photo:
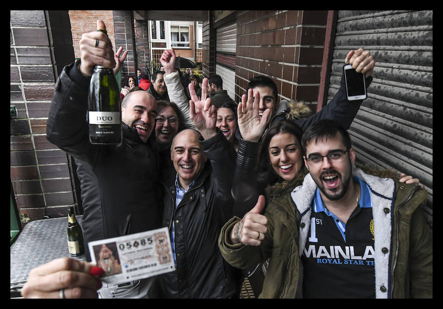
[[[203,79],[201,99],[198,99],[192,84],[189,84],[191,99],[189,101],[190,120],[200,131],[204,139],[216,135],[217,109],[211,104],[211,99],[206,98],[208,79]],[[203,91],[205,90],[205,91]]]

